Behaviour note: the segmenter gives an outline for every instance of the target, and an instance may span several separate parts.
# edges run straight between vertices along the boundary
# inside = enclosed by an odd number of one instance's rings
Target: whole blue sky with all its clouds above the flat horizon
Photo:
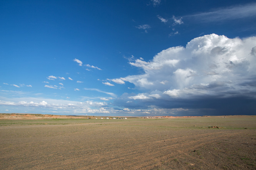
[[[256,113],[254,0],[8,0],[0,23],[0,113]]]

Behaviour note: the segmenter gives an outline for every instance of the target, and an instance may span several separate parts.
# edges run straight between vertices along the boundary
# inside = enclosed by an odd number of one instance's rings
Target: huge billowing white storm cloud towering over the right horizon
[[[155,104],[161,100],[163,104],[240,96],[255,99],[255,51],[256,37],[229,39],[210,34],[191,40],[186,47],[163,50],[151,61],[133,60],[130,64],[145,73],[123,79],[148,89],[148,93],[133,94],[127,100],[151,100]]]

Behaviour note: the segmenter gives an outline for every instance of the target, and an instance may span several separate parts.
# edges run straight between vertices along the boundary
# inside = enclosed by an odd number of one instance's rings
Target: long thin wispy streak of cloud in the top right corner
[[[256,17],[256,3],[246,5],[232,6],[228,8],[219,8],[209,12],[198,13],[194,15],[183,16],[184,18],[193,18],[199,22],[214,22],[235,20],[248,17]]]

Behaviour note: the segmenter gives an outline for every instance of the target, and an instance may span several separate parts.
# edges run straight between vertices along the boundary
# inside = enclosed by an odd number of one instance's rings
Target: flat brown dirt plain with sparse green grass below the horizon
[[[1,119],[0,169],[256,169],[256,116],[225,117]]]

